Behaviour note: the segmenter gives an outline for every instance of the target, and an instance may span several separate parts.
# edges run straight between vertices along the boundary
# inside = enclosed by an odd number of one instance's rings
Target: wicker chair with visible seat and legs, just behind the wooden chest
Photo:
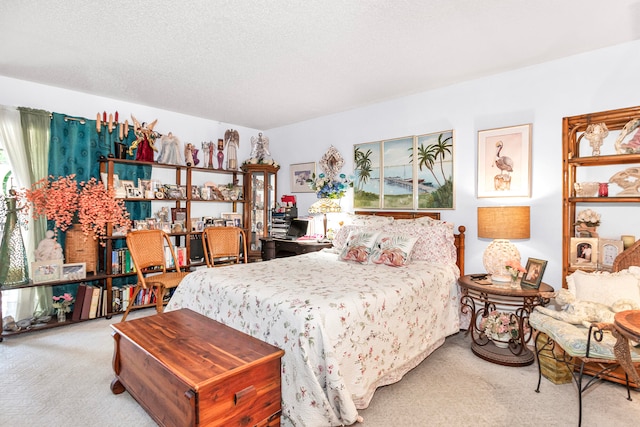
[[[167,271],[165,258],[165,245],[171,251],[175,271]],[[177,287],[182,279],[189,274],[181,271],[178,259],[173,249],[169,235],[162,230],[138,230],[127,234],[127,246],[131,253],[131,259],[136,267],[138,283],[133,291],[122,322],[125,321],[133,302],[142,289],[155,290],[156,312],[162,313],[164,309],[164,296],[167,289]]]

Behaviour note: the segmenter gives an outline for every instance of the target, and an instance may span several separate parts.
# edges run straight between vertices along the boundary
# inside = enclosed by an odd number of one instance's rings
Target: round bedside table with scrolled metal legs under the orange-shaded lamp
[[[461,311],[471,314],[471,322],[467,335],[471,335],[471,351],[478,357],[489,362],[506,366],[527,366],[533,363],[534,354],[527,347],[531,340],[529,314],[537,305],[546,305],[549,298],[544,294],[553,292],[553,288],[541,283],[539,289],[525,289],[520,286],[512,288],[510,283],[481,284],[471,276],[463,276],[458,280],[462,290],[460,298]],[[506,348],[500,348],[489,339],[480,328],[484,317],[498,309],[513,310],[518,325],[518,336],[510,339]]]

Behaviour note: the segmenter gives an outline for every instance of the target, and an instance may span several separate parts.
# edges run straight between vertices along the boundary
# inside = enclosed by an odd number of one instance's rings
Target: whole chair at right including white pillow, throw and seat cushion
[[[636,253],[638,257],[632,255]],[[538,306],[529,317],[536,331],[536,392],[542,379],[541,358],[553,357],[566,364],[578,388],[578,425],[583,392],[600,379],[611,379],[614,370],[623,368],[624,375],[617,382],[626,384],[628,400],[630,383],[640,387],[640,346],[628,341],[613,324],[615,313],[640,309],[640,259],[636,258],[640,258],[640,242],[616,258],[612,273],[574,272],[567,277],[568,289],[553,295],[561,309]],[[587,374],[591,378],[584,382]]]

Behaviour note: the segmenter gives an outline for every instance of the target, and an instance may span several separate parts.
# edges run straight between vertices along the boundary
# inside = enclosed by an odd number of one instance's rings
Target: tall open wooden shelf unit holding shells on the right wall
[[[626,226],[631,226],[628,221],[618,221],[615,228],[614,215],[606,215],[606,212],[615,212],[615,217],[631,217],[637,211],[640,202],[638,189],[634,189],[634,179],[638,179],[638,167],[640,165],[640,149],[624,149],[632,137],[636,134],[637,123],[632,120],[640,119],[640,107],[623,108],[597,113],[581,114],[578,116],[565,117],[562,120],[562,141],[563,141],[563,190],[562,190],[562,273],[563,277],[571,274],[576,269],[593,271],[606,269],[606,262],[601,257],[594,257],[584,265],[576,262],[579,256],[579,240],[572,238],[583,238],[588,236],[580,235],[576,229],[578,214],[587,209],[594,210],[601,214],[601,222],[609,221],[609,229],[614,228],[615,233],[598,232],[599,238],[619,239],[622,234],[634,234],[633,229],[627,230]],[[596,138],[599,124],[604,124],[607,128],[607,136],[603,140],[602,146],[593,144]],[[622,148],[619,146],[621,142]],[[618,147],[616,147],[618,145]],[[633,144],[632,144],[633,145]],[[597,152],[600,152],[599,154]],[[627,183],[630,188],[622,188],[621,181],[614,178],[619,173],[630,172],[635,174],[635,178],[629,175]],[[584,187],[585,183],[593,182],[594,189],[589,192],[581,192],[576,189],[576,183]],[[606,183],[607,195],[599,196],[597,188],[600,183]],[[626,185],[625,183],[623,183]],[[624,209],[624,211],[621,211]],[[603,228],[601,224],[600,230]],[[636,232],[638,230],[635,230]],[[602,242],[600,242],[601,244]],[[598,244],[598,243],[596,243]],[[596,248],[593,248],[596,249]],[[599,249],[599,248],[597,248]],[[603,251],[604,252],[604,251]],[[594,251],[597,255],[597,251]],[[602,255],[602,254],[600,254]],[[597,258],[597,259],[595,259]],[[582,261],[582,260],[577,260]],[[566,287],[566,283],[564,284]]]

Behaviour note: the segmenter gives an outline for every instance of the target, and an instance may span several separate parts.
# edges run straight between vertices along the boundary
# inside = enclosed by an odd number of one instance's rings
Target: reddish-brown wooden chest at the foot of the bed
[[[111,327],[111,390],[159,425],[280,425],[283,350],[188,309]]]

